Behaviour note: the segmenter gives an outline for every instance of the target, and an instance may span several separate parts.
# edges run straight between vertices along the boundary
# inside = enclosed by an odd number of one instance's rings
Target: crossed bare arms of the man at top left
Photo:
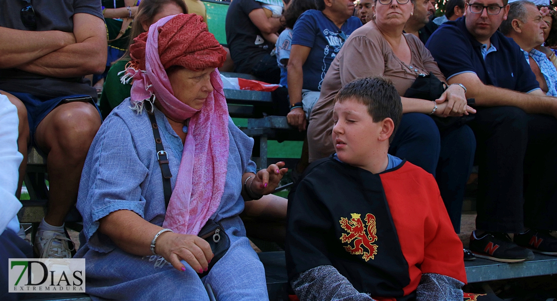
[[[104,22],[87,13],[74,14],[73,19],[73,33],[0,27],[0,68],[51,77],[102,73],[107,47]]]

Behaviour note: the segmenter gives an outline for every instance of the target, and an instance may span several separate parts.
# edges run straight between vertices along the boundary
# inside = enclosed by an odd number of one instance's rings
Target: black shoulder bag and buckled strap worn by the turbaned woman
[[[147,115],[149,116],[149,120],[151,122],[153,137],[155,138],[155,147],[157,147],[157,159],[159,160],[160,171],[163,174],[164,203],[168,208],[170,195],[172,195],[172,187],[170,186],[170,178],[172,177],[172,174],[170,173],[170,167],[168,166],[168,156],[167,152],[164,151],[163,141],[160,139],[159,127],[157,126],[155,115],[153,112],[149,112],[149,110],[147,111]],[[212,219],[209,219],[207,223],[205,223],[197,236],[207,241],[207,243],[211,246],[211,251],[213,252],[213,259],[211,259],[211,263],[209,263],[207,271],[203,272],[203,274],[198,273],[199,277],[202,278],[209,274],[213,265],[216,264],[217,261],[224,256],[224,254],[226,254],[230,248],[230,238],[228,237],[228,234],[226,234],[226,231],[224,231],[221,223],[217,223]]]

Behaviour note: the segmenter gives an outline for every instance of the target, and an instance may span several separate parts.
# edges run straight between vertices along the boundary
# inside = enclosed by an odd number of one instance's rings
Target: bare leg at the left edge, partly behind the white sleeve
[[[25,171],[27,170],[27,146],[31,143],[31,134],[29,132],[29,122],[27,120],[27,109],[19,98],[0,90],[0,94],[6,95],[8,100],[17,107],[17,115],[19,117],[19,135],[17,137],[18,151],[23,155],[21,165],[19,165],[19,180],[17,182],[16,197],[21,196],[21,186],[25,179]]]

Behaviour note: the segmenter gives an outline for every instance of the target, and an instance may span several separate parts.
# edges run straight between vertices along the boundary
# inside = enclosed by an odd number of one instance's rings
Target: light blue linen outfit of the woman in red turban
[[[162,174],[149,117],[129,108],[129,98],[116,107],[101,125],[85,160],[77,209],[83,216],[81,247],[76,258],[87,261],[87,293],[91,298],[115,300],[208,300],[204,284],[218,287],[217,299],[268,299],[265,270],[246,238],[240,216],[244,209],[242,175],[255,172],[250,160],[253,139],[228,120],[230,140],[226,182],[221,203],[211,217],[221,223],[231,246],[211,272],[200,279],[189,264],[184,272],[174,269],[162,256],[138,256],[118,248],[100,233],[99,219],[116,210],[131,210],[162,226],[165,217]],[[155,108],[172,178],[178,175],[183,144],[167,118]],[[131,231],[131,229],[130,229]],[[234,281],[240,277],[241,280]],[[228,295],[227,295],[228,294]],[[232,294],[232,295],[229,295]]]

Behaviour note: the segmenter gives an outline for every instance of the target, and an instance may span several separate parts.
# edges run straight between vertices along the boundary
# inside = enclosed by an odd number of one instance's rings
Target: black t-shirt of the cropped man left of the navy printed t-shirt
[[[226,13],[226,41],[237,72],[250,73],[275,48],[251,22],[249,14],[258,8],[261,3],[255,0],[234,0]]]

